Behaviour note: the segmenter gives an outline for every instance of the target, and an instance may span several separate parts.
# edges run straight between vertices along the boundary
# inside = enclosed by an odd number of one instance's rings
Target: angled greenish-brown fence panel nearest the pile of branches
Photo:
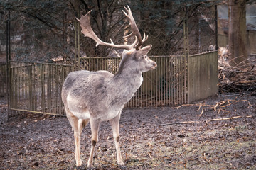
[[[206,52],[188,57],[188,103],[218,93],[218,54]]]

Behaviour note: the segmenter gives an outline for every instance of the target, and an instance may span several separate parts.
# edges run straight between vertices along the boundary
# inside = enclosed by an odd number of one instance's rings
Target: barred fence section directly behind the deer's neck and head
[[[158,67],[144,73],[142,86],[126,107],[174,106],[187,102],[186,57],[150,57]],[[115,74],[119,67],[119,57],[86,57],[80,60],[82,69],[97,71],[104,69]]]

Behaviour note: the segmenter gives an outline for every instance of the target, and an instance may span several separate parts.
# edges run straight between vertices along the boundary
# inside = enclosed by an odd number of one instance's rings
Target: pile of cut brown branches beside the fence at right
[[[256,67],[254,62],[242,66],[230,66],[225,60],[219,60],[218,81],[220,94],[238,94],[250,91],[256,94]]]

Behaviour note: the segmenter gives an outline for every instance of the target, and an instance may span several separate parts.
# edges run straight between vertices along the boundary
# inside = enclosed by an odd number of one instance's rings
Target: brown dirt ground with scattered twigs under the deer
[[[0,104],[0,169],[75,169],[67,118],[26,113],[6,121],[4,98]],[[255,115],[256,96],[250,94],[177,108],[124,109],[122,157],[127,169],[256,169]],[[86,165],[90,125],[81,138]],[[94,167],[119,169],[110,123],[100,125]]]

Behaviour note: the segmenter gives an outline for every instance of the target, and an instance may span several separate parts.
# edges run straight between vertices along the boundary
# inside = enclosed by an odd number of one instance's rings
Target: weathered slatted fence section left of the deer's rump
[[[10,67],[11,110],[65,115],[61,88],[72,66],[10,62]]]

